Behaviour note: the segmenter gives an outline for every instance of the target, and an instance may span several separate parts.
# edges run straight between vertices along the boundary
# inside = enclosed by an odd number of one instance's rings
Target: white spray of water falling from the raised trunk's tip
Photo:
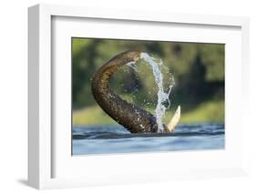
[[[159,87],[158,104],[155,109],[155,117],[157,118],[157,123],[158,123],[158,128],[159,128],[158,132],[160,133],[160,132],[164,131],[162,119],[165,116],[166,109],[169,108],[169,106],[170,106],[169,94],[170,94],[171,88],[173,87],[173,82],[170,82],[168,88],[164,88],[163,74],[161,72],[162,69],[164,68],[162,60],[157,62],[157,60],[154,57],[148,56],[147,53],[141,53],[140,58],[145,60],[148,64],[148,66],[150,66],[150,68],[152,69],[153,75],[155,77],[155,82],[156,82],[157,86]],[[138,72],[138,70],[135,66],[135,62],[128,63],[127,65],[132,67],[134,70],[136,70]],[[165,92],[165,90],[167,90],[167,92]],[[168,106],[165,106],[166,102],[168,102]]]

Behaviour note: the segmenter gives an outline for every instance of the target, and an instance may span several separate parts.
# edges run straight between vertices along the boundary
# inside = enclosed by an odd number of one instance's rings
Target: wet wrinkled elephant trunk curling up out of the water
[[[131,133],[155,133],[158,131],[156,117],[148,111],[136,105],[128,103],[118,97],[108,87],[109,78],[125,66],[128,62],[136,61],[140,56],[138,51],[127,51],[114,56],[106,64],[101,66],[92,78],[92,93],[97,104],[120,125]],[[164,126],[165,131],[168,129]]]

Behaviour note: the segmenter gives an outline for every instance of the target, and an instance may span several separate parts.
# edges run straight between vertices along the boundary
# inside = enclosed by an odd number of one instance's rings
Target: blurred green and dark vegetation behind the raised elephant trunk
[[[181,106],[182,123],[224,121],[223,44],[130,41],[72,38],[72,104],[74,125],[114,124],[98,107],[91,93],[91,77],[110,58],[127,50],[147,52],[163,60],[164,77],[174,77],[169,97],[169,121],[175,108]],[[152,71],[138,61],[138,72],[128,66],[114,75],[110,87],[129,102],[153,112],[157,87]],[[168,84],[168,81],[166,84]]]

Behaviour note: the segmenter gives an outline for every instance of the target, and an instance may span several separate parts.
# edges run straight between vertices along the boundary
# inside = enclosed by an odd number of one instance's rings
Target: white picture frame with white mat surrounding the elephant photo
[[[55,26],[56,18],[61,19],[61,24],[57,24],[58,26]],[[229,42],[230,45],[228,44],[229,47],[227,49],[227,57],[229,59],[227,60],[228,64],[234,64],[234,66],[232,66],[232,72],[230,72],[230,67],[226,68],[226,76],[228,76],[226,83],[226,100],[228,100],[226,101],[225,108],[226,121],[229,121],[227,122],[228,128],[237,129],[234,129],[233,133],[226,134],[226,138],[228,138],[226,145],[227,149],[224,151],[218,150],[193,153],[140,153],[130,155],[91,156],[90,158],[73,157],[72,159],[70,159],[72,156],[68,154],[68,148],[64,148],[64,151],[61,151],[60,153],[59,145],[69,147],[70,138],[68,138],[65,130],[63,130],[63,133],[56,133],[56,131],[52,130],[55,123],[54,119],[57,119],[56,117],[53,117],[53,107],[55,106],[53,94],[57,91],[57,85],[53,87],[53,80],[55,80],[56,77],[56,71],[52,70],[52,64],[55,63],[55,59],[53,59],[55,56],[52,54],[54,51],[53,45],[56,46],[54,43],[56,36],[53,36],[55,33],[53,31],[59,26],[67,27],[67,21],[65,21],[67,18],[71,18],[71,22],[73,22],[72,18],[75,20],[79,18],[80,21],[83,21],[83,19],[90,19],[91,24],[94,23],[94,20],[100,20],[100,24],[105,24],[107,26],[112,25],[111,23],[118,25],[119,23],[117,21],[122,21],[122,23],[128,22],[129,25],[139,22],[139,24],[144,26],[148,25],[151,28],[154,26],[159,26],[160,28],[161,25],[177,25],[178,27],[189,26],[189,33],[191,35],[196,35],[195,33],[197,33],[197,31],[193,32],[194,28],[202,30],[206,29],[206,31],[223,28],[223,32],[233,30],[233,34],[230,33],[225,35],[225,33],[223,33],[218,36],[220,37],[220,42]],[[242,137],[244,137],[244,133],[246,133],[245,128],[249,123],[247,120],[250,119],[247,111],[247,105],[249,103],[247,100],[249,99],[249,87],[246,85],[246,80],[249,78],[249,19],[247,17],[185,15],[157,12],[147,13],[135,10],[111,10],[67,5],[35,5],[28,9],[28,22],[28,183],[30,186],[36,189],[53,189],[171,179],[230,177],[246,174],[247,152]],[[68,25],[72,24],[69,23]],[[72,29],[77,30],[78,36],[80,26],[78,26],[78,28],[76,28],[76,26],[74,27],[75,28]],[[93,28],[95,28],[95,31],[93,31],[93,29],[91,33],[98,32],[97,26],[94,26]],[[64,28],[59,29],[61,30]],[[63,35],[71,36],[72,33],[76,32],[65,30]],[[102,33],[104,32],[97,34],[97,37],[103,37],[104,34]],[[186,33],[188,33],[188,31],[186,31]],[[201,36],[198,36],[194,41],[215,41],[214,36],[203,36],[203,33],[204,32],[202,31]],[[213,33],[214,30],[212,34],[209,35],[213,35]],[[116,34],[115,32],[108,32],[108,37],[115,37],[117,34],[120,34],[120,32],[116,32]],[[122,34],[122,36],[130,38],[130,35],[128,34],[129,33]],[[230,36],[231,34],[233,36]],[[223,36],[223,40],[221,39],[221,36]],[[230,39],[228,39],[229,36]],[[144,38],[147,39],[147,37]],[[153,37],[151,35],[148,39],[150,38],[163,38],[166,40],[169,37],[160,37],[159,35]],[[191,40],[189,37],[186,39],[186,36],[171,38],[172,40],[179,39],[179,41]],[[232,42],[236,42],[237,45],[233,45]],[[231,57],[231,54],[234,53],[235,55]],[[236,61],[235,59],[238,60]],[[68,70],[66,73],[68,74]],[[234,76],[231,76],[231,74]],[[234,77],[237,78],[234,79]],[[231,83],[235,83],[238,87],[236,91],[233,90]],[[241,100],[243,103],[241,103]],[[67,104],[68,110],[68,108],[71,107],[68,106],[68,99],[65,102],[67,102],[65,104]],[[234,103],[238,104],[238,107],[233,107],[232,104]],[[235,113],[237,108],[241,110],[240,114]],[[56,109],[55,111],[57,112]],[[69,116],[67,114],[64,117]],[[230,122],[231,120],[234,121]],[[67,142],[67,144],[65,144],[65,142]],[[165,168],[152,168],[150,164],[148,166],[143,166],[145,160],[154,157],[157,157],[163,164],[165,164]],[[190,162],[192,164],[187,164],[187,168],[183,168],[182,165],[179,165],[179,162],[188,161],[189,158],[191,158]],[[214,160],[215,164],[211,162],[209,165],[203,166],[198,162],[200,159],[204,162]],[[117,165],[118,163],[123,162],[123,160],[130,164],[127,169],[123,169],[122,166]],[[140,168],[134,168],[135,160],[138,162],[138,167]],[[105,164],[108,164],[108,169],[104,168],[106,166],[103,166],[102,168],[99,167],[100,163],[98,163],[98,161],[104,161]],[[139,163],[139,161],[141,163]],[[169,164],[169,161],[172,161],[172,164],[166,166],[166,164]],[[85,168],[83,167],[83,164],[85,163],[90,164],[91,166]],[[197,166],[196,164],[199,165]],[[76,168],[72,168],[74,166]],[[94,173],[97,169],[101,173]],[[83,176],[85,171],[87,172],[87,176]],[[134,173],[137,173],[136,176],[134,176]],[[109,179],[109,176],[111,179]]]

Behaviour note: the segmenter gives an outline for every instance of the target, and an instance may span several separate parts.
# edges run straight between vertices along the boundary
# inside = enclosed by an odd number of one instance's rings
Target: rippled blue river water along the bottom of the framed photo
[[[174,133],[131,134],[119,125],[73,128],[73,155],[225,148],[223,124],[179,125]]]

